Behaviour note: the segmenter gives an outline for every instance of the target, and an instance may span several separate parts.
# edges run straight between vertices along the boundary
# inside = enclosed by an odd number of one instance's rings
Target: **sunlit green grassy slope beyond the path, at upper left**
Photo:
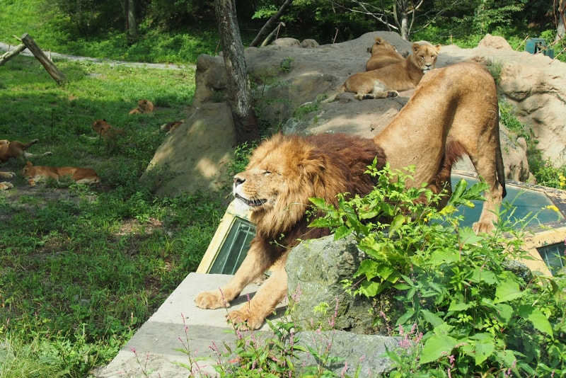
[[[153,62],[195,64],[201,54],[214,54],[219,36],[216,25],[209,29],[162,30],[155,25],[139,25],[140,37],[134,43],[127,42],[125,32],[108,30],[105,35],[85,38],[76,35],[62,25],[72,25],[59,20],[52,10],[37,0],[2,0],[0,3],[0,42],[18,45],[18,40],[28,33],[45,52],[126,60],[129,62]]]

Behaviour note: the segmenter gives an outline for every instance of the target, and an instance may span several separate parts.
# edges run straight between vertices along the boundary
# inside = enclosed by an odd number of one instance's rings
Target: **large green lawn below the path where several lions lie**
[[[0,377],[84,377],[109,362],[197,268],[224,212],[221,193],[158,198],[139,183],[159,126],[186,116],[192,69],[55,64],[68,84],[33,58],[0,67],[0,137],[38,138],[28,151],[53,154],[34,164],[89,166],[102,183],[30,189],[25,161],[1,167],[18,176],[0,192]],[[128,115],[139,98],[156,111]],[[96,139],[98,118],[127,135]]]

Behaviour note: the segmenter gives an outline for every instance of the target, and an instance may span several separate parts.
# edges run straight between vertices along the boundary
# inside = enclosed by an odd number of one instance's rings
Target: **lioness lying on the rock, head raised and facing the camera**
[[[388,98],[399,96],[398,91],[415,88],[422,76],[434,69],[437,64],[440,45],[413,43],[412,54],[403,62],[389,64],[373,71],[352,74],[337,93],[327,98],[323,103],[334,101],[342,92],[356,93],[358,100],[368,98]]]

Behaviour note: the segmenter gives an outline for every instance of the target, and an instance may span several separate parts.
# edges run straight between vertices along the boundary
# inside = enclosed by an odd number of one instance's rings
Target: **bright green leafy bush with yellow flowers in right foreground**
[[[395,325],[410,337],[404,353],[388,353],[398,362],[391,377],[566,374],[563,277],[510,268],[527,258],[516,224],[499,221],[492,234],[480,235],[459,225],[457,207],[472,205],[486,185],[461,181],[436,210],[426,204],[443,194],[405,188],[408,173],[388,166],[369,173],[379,183],[366,197],[340,195],[337,208],[313,199],[326,215],[312,226],[359,240],[368,258],[347,287],[403,302]]]

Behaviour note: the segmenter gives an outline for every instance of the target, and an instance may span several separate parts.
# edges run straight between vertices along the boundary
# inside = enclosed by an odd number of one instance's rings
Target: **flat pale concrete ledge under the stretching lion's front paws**
[[[185,350],[188,343],[191,356],[198,360],[193,373],[216,375],[216,355],[211,346],[216,344],[224,352],[224,342],[233,345],[235,333],[226,323],[226,309],[204,310],[195,306],[195,297],[204,290],[214,290],[230,280],[231,275],[190,273],[173,291],[156,313],[144,323],[126,343],[120,353],[103,369],[93,372],[98,378],[114,377],[187,377],[190,370],[179,364],[189,365]],[[241,296],[231,303],[240,307],[258,290],[249,285]],[[285,304],[278,307],[282,314]],[[278,316],[272,316],[277,319]],[[185,326],[186,331],[185,331]],[[270,332],[264,324],[259,331]],[[187,341],[188,340],[188,341]],[[134,353],[135,350],[135,353]]]

